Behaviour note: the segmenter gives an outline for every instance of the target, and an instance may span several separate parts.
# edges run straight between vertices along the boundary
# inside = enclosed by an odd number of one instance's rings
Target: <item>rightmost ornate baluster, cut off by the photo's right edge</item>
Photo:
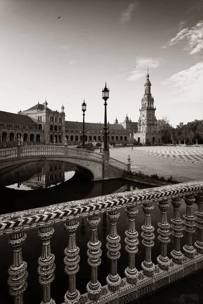
[[[194,245],[196,246],[197,252],[203,253],[203,192],[198,193],[195,198],[198,204],[198,210],[195,212],[198,240],[194,243]]]

